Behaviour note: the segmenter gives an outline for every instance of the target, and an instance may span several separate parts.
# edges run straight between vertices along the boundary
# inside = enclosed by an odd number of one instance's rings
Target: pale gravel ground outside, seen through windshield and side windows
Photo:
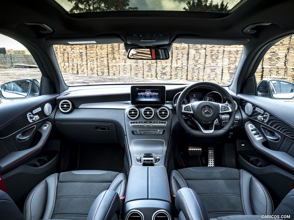
[[[23,79],[32,77],[40,82],[41,72],[35,68],[6,68],[0,69],[0,85],[15,79]],[[160,79],[143,79],[138,77],[124,77],[124,76],[95,76],[95,75],[75,75],[75,74],[63,74],[64,81],[67,85],[88,85],[88,84],[109,84],[115,83],[171,83],[171,80]],[[172,81],[173,83],[187,83],[187,81]],[[189,83],[189,82],[188,82]],[[2,100],[0,98],[0,104],[9,102],[10,100]],[[294,100],[287,101],[294,104]]]

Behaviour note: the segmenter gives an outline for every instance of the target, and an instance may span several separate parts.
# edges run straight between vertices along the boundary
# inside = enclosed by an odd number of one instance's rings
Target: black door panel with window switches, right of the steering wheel
[[[294,105],[253,95],[238,96],[247,121],[237,143],[239,166],[267,187],[276,206],[293,184]]]

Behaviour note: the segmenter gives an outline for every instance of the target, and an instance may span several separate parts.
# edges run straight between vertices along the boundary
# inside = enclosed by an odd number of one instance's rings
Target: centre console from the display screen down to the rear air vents
[[[164,86],[132,86],[125,111],[131,159],[125,220],[171,220],[172,204],[164,160],[171,130],[171,109],[165,106]]]

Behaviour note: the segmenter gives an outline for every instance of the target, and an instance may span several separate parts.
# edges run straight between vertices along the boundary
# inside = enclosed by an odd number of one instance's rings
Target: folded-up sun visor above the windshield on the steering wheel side
[[[173,43],[186,44],[207,44],[207,45],[245,45],[250,40],[248,38],[203,38],[192,36],[181,36],[173,40]]]

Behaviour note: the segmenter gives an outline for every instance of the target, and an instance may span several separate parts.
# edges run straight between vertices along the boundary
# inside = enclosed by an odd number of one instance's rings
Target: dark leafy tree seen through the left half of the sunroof
[[[97,11],[136,11],[137,7],[129,7],[130,0],[68,0],[74,3],[70,13]]]

